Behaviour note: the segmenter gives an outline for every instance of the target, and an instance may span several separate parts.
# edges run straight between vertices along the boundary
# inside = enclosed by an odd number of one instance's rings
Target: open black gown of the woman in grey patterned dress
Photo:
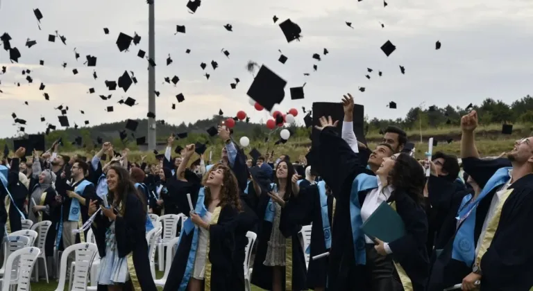
[[[301,190],[302,191],[302,190]],[[303,194],[303,193],[300,193]],[[305,195],[302,195],[305,197]],[[257,217],[260,218],[257,233],[257,251],[253,261],[253,272],[251,283],[264,290],[272,290],[272,268],[264,265],[267,256],[267,244],[272,233],[272,222],[264,220],[265,212],[269,205],[270,196],[266,191],[262,191],[257,206]],[[282,267],[282,290],[307,290],[307,268],[305,267],[305,257],[300,242],[299,231],[303,224],[301,210],[297,208],[298,198],[294,195],[289,197],[285,203],[285,208],[281,209],[279,230],[285,236],[286,258],[285,267]]]

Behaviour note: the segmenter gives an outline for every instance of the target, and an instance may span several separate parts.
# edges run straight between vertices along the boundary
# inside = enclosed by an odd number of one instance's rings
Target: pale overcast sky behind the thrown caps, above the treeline
[[[386,8],[380,0],[204,0],[194,15],[185,6],[187,0],[155,2],[155,86],[161,93],[155,114],[168,123],[209,118],[219,109],[228,115],[243,109],[252,121],[266,121],[267,113],[256,112],[248,104],[246,91],[253,81],[245,69],[248,60],[267,65],[287,81],[285,100],[275,107],[284,112],[291,107],[310,108],[316,101],[337,102],[347,92],[364,105],[366,115],[379,118],[403,117],[423,102],[426,107],[466,107],[484,98],[512,103],[533,93],[531,0],[390,0]],[[35,8],[44,16],[42,30],[33,15]],[[0,75],[0,137],[17,134],[12,112],[28,121],[29,133],[46,129],[41,116],[59,125],[60,112],[54,110],[59,105],[69,106],[71,125],[145,118],[148,62],[138,58],[137,51],[148,51],[148,8],[145,0],[1,0],[0,34],[10,34],[11,45],[19,48],[22,58],[11,64],[8,52],[0,50],[1,66],[8,67]],[[279,18],[277,24],[273,15]],[[301,27],[300,42],[287,43],[282,34],[278,24],[287,18]],[[353,29],[345,21],[352,22]],[[225,24],[232,24],[233,32]],[[185,25],[187,33],[174,35],[176,25]],[[103,33],[104,27],[109,35]],[[48,42],[48,35],[56,30],[65,35],[67,46],[59,39]],[[137,32],[141,42],[121,53],[115,44],[121,32],[132,37]],[[27,38],[37,44],[24,46]],[[380,50],[388,39],[396,45],[389,58]],[[434,47],[437,40],[442,43],[439,51]],[[74,48],[81,55],[77,62]],[[187,48],[190,54],[185,53]],[[221,53],[222,48],[230,58]],[[322,55],[320,62],[312,59],[323,48],[330,53]],[[278,62],[278,49],[289,58],[285,64]],[[166,66],[169,54],[174,63]],[[98,58],[96,68],[83,65],[85,55]],[[212,60],[219,63],[215,71]],[[61,67],[63,62],[66,69]],[[205,71],[201,62],[208,64]],[[313,71],[313,64],[318,71]],[[399,65],[405,67],[405,75]],[[374,69],[370,80],[365,77],[367,67]],[[31,70],[33,84],[28,85],[23,69]],[[72,69],[79,73],[74,76]],[[126,93],[118,87],[108,91],[104,81],[117,80],[125,70],[135,73],[137,85]],[[383,72],[381,78],[378,70]],[[206,72],[209,80],[203,76]],[[163,84],[165,77],[174,75],[180,78],[176,87]],[[241,81],[237,89],[230,88],[233,78]],[[44,91],[39,90],[41,82],[46,85]],[[305,99],[290,100],[289,88],[305,82]],[[91,87],[95,94],[87,93]],[[49,101],[44,100],[44,92]],[[176,101],[179,93],[185,96],[183,103]],[[112,98],[104,101],[100,94],[112,94]],[[139,105],[117,104],[127,97],[137,99]],[[398,109],[387,108],[390,101],[398,103]],[[114,113],[104,111],[110,105],[115,106]],[[301,118],[303,114],[297,117],[299,122]]]

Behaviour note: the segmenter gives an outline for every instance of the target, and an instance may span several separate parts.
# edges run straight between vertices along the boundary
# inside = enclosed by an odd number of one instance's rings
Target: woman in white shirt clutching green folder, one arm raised
[[[334,218],[332,251],[340,253],[330,254],[329,288],[425,290],[428,219],[422,205],[425,175],[421,164],[400,153],[382,159],[373,175],[337,134],[336,125],[331,118],[322,117],[321,126],[316,127],[321,130],[321,159],[316,166],[332,188],[337,205],[345,205],[337,209]],[[405,225],[405,234],[393,241],[370,238],[361,230],[382,203],[389,204]],[[342,212],[349,221],[337,219]]]

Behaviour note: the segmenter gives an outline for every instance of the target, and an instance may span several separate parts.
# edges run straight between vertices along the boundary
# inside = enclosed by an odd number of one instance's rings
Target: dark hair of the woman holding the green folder
[[[422,205],[425,186],[424,169],[421,164],[405,153],[396,157],[396,163],[387,177],[395,191],[404,191],[416,204]]]

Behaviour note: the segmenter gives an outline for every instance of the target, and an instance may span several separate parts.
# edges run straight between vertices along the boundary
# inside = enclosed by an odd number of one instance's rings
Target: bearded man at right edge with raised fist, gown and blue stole
[[[474,290],[480,283],[481,290],[527,290],[533,233],[523,229],[533,221],[533,137],[516,141],[508,159],[481,160],[475,110],[462,117],[461,127],[464,170],[482,191],[462,200],[457,231],[434,264],[430,288],[462,283],[463,290]]]

